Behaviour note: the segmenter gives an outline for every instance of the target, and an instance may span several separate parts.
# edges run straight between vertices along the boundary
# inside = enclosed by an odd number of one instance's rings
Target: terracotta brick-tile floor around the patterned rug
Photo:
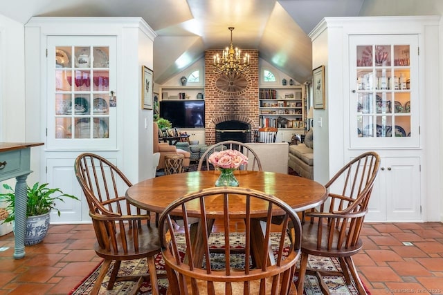
[[[367,223],[361,237],[354,262],[371,294],[443,294],[443,223]],[[95,240],[91,225],[51,225],[15,260],[14,236],[0,237],[0,295],[69,293],[101,261]]]

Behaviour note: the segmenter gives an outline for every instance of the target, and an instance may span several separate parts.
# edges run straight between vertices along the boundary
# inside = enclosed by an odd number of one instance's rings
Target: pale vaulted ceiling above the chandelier
[[[355,17],[364,0],[15,0],[0,14],[30,17],[142,17],[156,31],[154,79],[162,84],[204,56],[233,44],[303,83],[311,76],[307,34],[323,17]],[[177,61],[186,60],[180,68]]]

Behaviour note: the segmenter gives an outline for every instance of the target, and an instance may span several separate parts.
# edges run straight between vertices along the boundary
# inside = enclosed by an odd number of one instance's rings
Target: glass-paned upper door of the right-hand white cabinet
[[[416,35],[350,39],[351,147],[419,145]]]

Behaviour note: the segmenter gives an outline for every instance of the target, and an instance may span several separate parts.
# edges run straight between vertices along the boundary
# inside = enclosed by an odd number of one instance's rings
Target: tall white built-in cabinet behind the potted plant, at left
[[[152,68],[154,37],[140,18],[26,23],[26,99],[35,108],[29,131],[45,143],[39,182],[81,199],[57,203],[62,214],[51,222],[91,222],[75,178],[80,153],[111,160],[133,183],[154,177],[153,113],[141,107],[141,69]]]

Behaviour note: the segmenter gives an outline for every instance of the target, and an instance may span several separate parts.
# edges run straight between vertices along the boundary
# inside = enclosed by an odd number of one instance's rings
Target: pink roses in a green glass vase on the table
[[[238,187],[238,180],[234,171],[243,164],[248,164],[248,158],[237,150],[227,149],[212,153],[208,161],[218,169],[221,174],[215,181],[216,187]]]

